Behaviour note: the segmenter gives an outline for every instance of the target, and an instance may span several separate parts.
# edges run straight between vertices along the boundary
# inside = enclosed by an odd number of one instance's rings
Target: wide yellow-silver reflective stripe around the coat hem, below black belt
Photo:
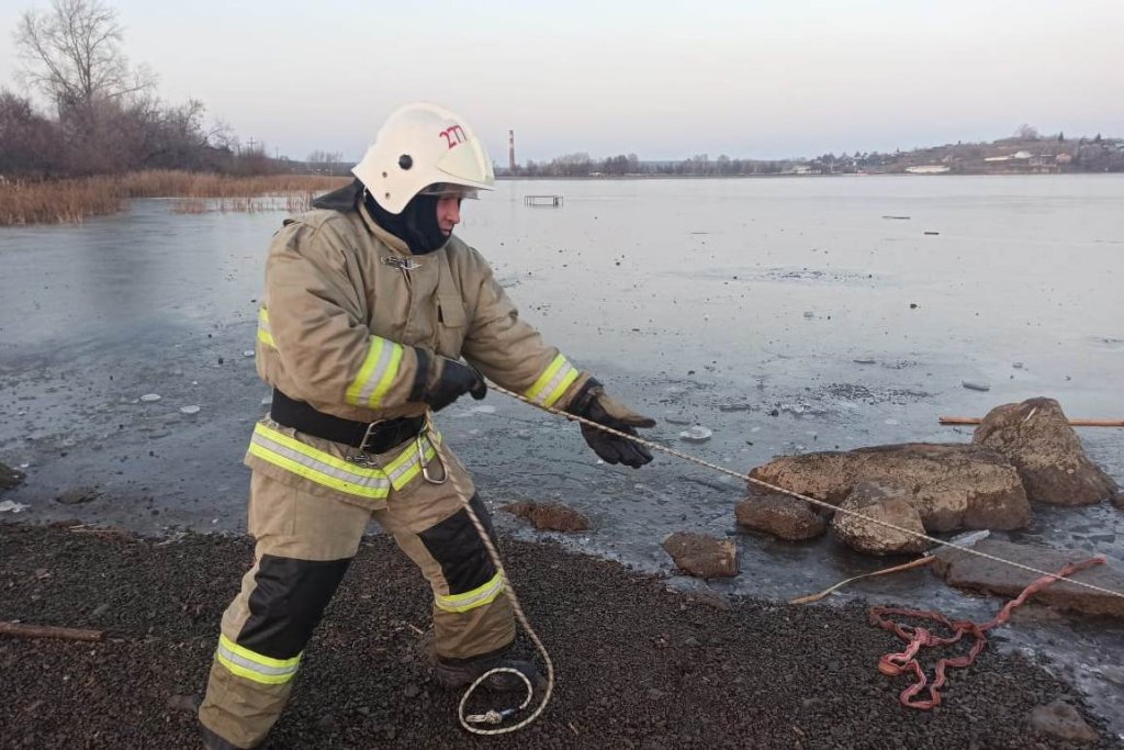
[[[436,455],[434,443],[439,442],[441,434],[423,441],[426,464]],[[262,423],[254,427],[248,452],[309,481],[368,499],[386,498],[391,488],[401,489],[422,471],[417,441],[411,440],[384,468],[366,468],[306,445]]]

